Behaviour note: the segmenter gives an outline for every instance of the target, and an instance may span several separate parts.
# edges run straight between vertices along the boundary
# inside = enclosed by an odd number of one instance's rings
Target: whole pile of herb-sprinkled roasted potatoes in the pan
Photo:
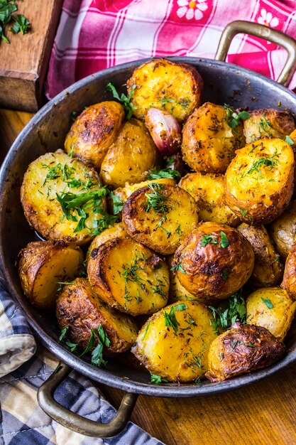
[[[125,81],[28,166],[45,241],[20,252],[24,294],[65,348],[96,366],[131,350],[151,383],[273,364],[296,312],[292,114],[201,104],[197,70],[171,60]]]

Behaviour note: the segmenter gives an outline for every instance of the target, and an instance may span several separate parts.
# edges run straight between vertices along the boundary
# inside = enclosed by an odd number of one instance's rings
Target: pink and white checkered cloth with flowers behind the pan
[[[234,20],[265,24],[296,38],[295,0],[65,0],[48,71],[52,98],[73,82],[119,63],[170,55],[214,58]],[[239,34],[228,61],[277,79],[285,50]],[[294,75],[290,88],[296,87]]]

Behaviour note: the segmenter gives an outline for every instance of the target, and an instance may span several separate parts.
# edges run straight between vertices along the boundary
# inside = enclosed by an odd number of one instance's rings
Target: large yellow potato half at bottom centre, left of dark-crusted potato
[[[177,331],[165,326],[165,313],[168,316],[172,308]],[[206,306],[176,301],[148,319],[131,351],[150,372],[169,382],[192,382],[207,371],[207,352],[214,338]]]

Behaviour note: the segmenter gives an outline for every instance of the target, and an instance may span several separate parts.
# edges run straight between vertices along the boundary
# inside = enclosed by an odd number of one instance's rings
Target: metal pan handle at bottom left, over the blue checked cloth
[[[119,434],[126,427],[131,417],[138,395],[125,392],[120,407],[111,422],[98,424],[62,407],[53,398],[53,392],[71,371],[72,368],[70,366],[60,362],[53,374],[40,386],[37,398],[43,411],[63,427],[70,428],[85,436],[105,438]]]

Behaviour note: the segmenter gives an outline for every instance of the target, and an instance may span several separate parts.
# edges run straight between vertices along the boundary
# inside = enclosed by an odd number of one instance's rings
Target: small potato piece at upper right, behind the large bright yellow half
[[[243,134],[246,144],[261,139],[261,137],[276,137],[285,139],[295,129],[292,114],[278,109],[255,109],[251,117],[243,122]]]

